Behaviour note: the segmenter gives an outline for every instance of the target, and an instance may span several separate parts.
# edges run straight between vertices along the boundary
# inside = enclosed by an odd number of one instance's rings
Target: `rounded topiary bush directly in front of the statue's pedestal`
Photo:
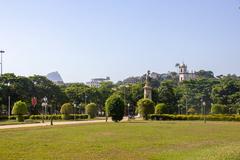
[[[154,113],[154,103],[151,99],[143,98],[137,102],[138,113],[143,117],[143,119],[148,119],[148,114]]]

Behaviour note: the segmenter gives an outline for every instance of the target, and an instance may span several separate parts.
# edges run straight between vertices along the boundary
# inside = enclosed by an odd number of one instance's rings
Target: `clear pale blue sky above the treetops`
[[[4,72],[66,82],[189,70],[240,75],[240,0],[0,0]]]

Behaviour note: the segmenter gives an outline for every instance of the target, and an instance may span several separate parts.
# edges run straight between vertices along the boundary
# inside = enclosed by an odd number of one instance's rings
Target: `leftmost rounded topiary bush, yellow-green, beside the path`
[[[16,115],[16,120],[18,122],[23,122],[23,115],[28,113],[27,104],[22,101],[17,101],[14,103],[12,114]]]

